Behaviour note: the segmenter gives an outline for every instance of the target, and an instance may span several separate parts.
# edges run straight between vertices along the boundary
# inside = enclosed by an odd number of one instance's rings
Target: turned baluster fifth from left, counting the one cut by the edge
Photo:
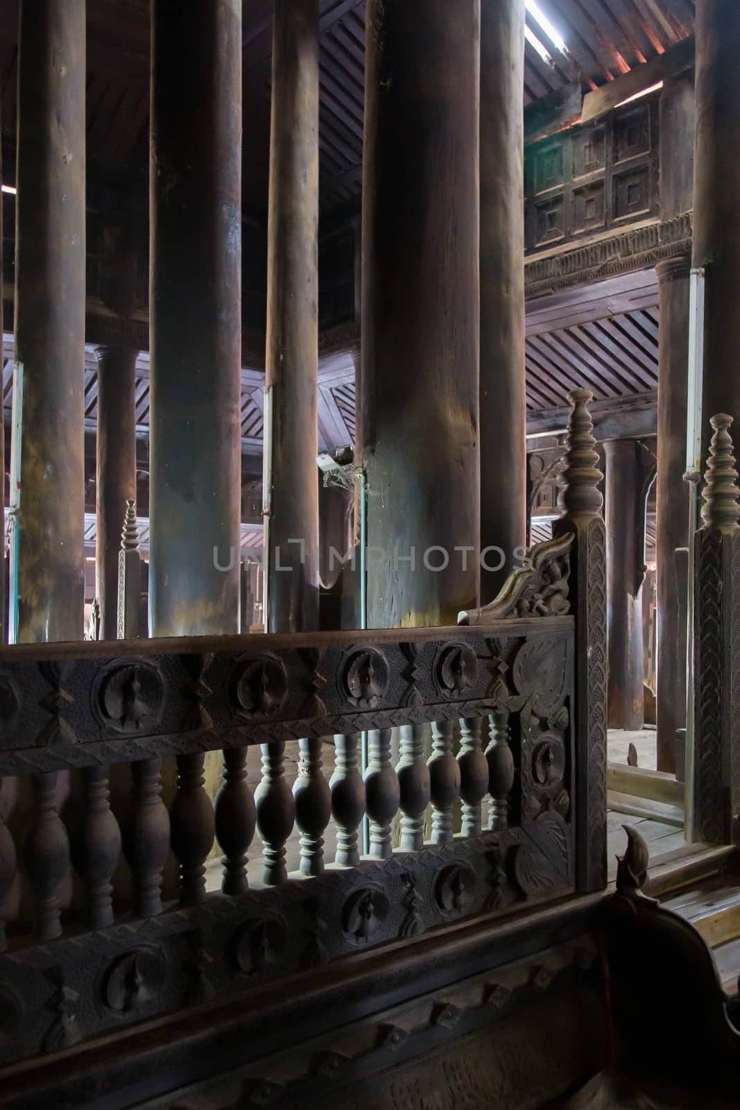
[[[180,864],[180,901],[193,906],[205,897],[203,866],[215,836],[213,804],[203,787],[201,753],[178,756],[178,793],[170,808],[170,842]]]

